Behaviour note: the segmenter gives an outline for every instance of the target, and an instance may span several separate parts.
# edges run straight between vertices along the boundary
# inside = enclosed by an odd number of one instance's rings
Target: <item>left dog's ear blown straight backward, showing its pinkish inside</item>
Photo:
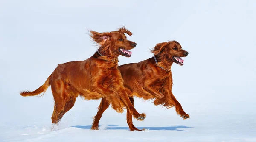
[[[110,38],[110,33],[98,33],[96,31],[89,31],[90,32],[90,38],[93,39],[96,43],[103,44],[107,41],[107,39]]]

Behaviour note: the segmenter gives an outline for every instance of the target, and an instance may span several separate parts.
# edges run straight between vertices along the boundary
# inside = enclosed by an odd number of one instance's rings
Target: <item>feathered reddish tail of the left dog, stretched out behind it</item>
[[[42,92],[46,92],[47,88],[50,86],[50,78],[51,78],[52,75],[50,75],[47,80],[45,81],[45,83],[40,86],[38,89],[36,89],[35,91],[23,91],[23,92],[20,92],[20,95],[22,95],[23,97],[26,97],[26,96],[35,96],[35,95],[38,95]],[[44,95],[44,93],[42,95]]]

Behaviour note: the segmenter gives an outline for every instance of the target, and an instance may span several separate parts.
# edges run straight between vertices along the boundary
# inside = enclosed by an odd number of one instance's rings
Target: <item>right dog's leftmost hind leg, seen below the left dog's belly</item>
[[[99,120],[102,117],[103,112],[108,109],[109,103],[106,98],[102,98],[102,101],[100,102],[100,105],[98,107],[98,112],[96,114],[93,120],[92,130],[98,130],[99,129]]]

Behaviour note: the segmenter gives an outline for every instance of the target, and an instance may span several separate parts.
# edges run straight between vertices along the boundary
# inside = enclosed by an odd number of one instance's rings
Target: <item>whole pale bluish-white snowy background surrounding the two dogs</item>
[[[256,1],[254,0],[1,0],[0,142],[256,142]],[[58,64],[96,51],[87,30],[125,25],[137,43],[130,58],[152,57],[159,42],[177,40],[189,56],[174,64],[175,109],[135,98],[145,112],[129,131],[125,113],[108,109],[100,130],[90,130],[100,100],[78,98],[59,130],[51,131],[53,97],[22,97],[41,86]]]

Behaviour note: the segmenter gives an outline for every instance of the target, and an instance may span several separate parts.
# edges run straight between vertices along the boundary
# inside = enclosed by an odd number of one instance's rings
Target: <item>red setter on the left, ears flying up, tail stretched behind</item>
[[[78,96],[86,100],[102,98],[105,104],[111,104],[119,113],[125,106],[137,120],[144,120],[145,114],[139,114],[129,100],[117,69],[118,56],[131,57],[129,50],[136,46],[135,42],[126,39],[125,33],[132,35],[125,27],[105,33],[90,31],[90,37],[100,46],[93,56],[84,61],[58,64],[41,87],[32,92],[20,92],[20,95],[35,96],[51,86],[55,100],[52,123],[57,125],[74,106]]]

